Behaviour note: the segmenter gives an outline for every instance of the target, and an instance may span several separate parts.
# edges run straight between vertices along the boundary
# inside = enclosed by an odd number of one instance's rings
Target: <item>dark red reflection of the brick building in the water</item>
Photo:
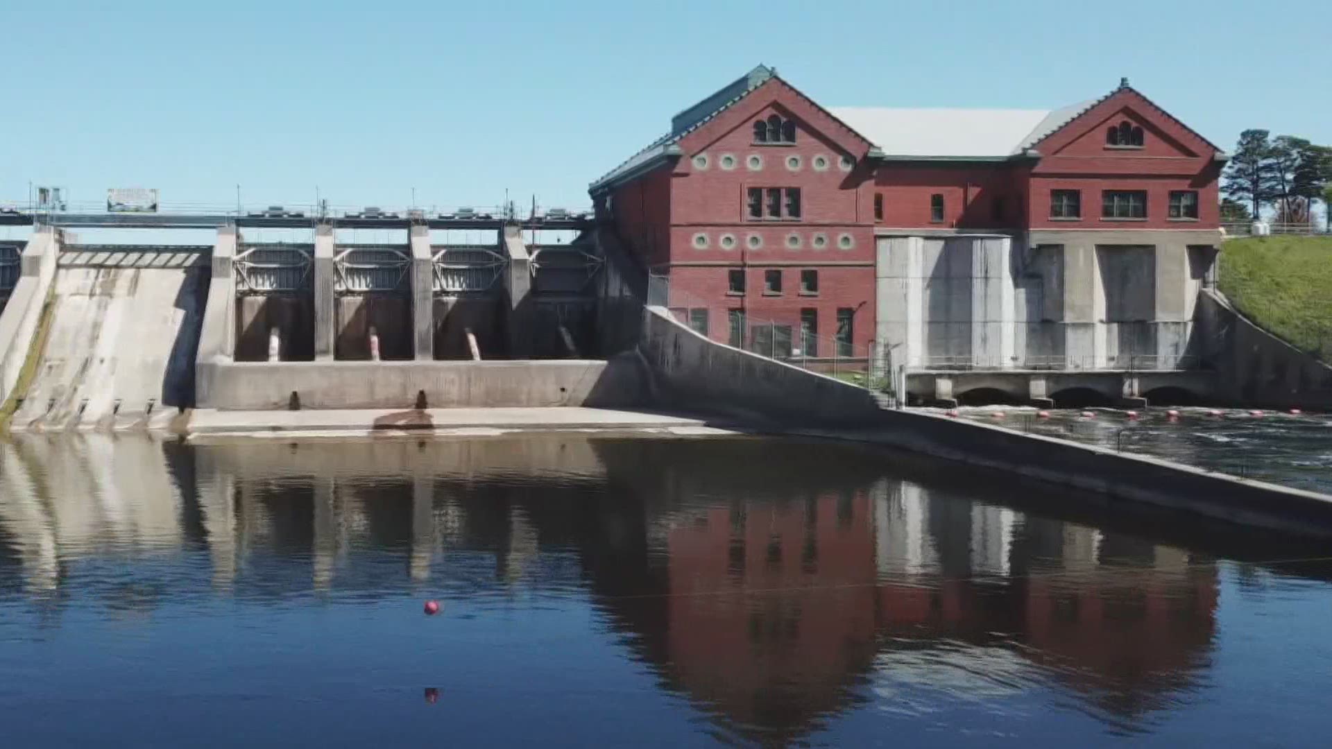
[[[958,648],[978,657],[999,648],[1116,721],[1187,688],[1205,664],[1217,594],[1209,564],[906,481],[848,477],[809,490],[799,474],[815,458],[766,449],[747,490],[706,465],[634,481],[655,508],[643,522],[657,538],[649,554],[665,557],[653,580],[666,597],[633,602],[621,621],[670,685],[727,724],[765,738],[803,734],[846,708],[855,684],[898,668],[883,656],[903,648],[943,646],[943,662],[970,657]],[[734,498],[726,509],[679,506],[677,497],[699,494]],[[617,597],[605,605],[621,617]],[[912,678],[955,676],[914,662]]]

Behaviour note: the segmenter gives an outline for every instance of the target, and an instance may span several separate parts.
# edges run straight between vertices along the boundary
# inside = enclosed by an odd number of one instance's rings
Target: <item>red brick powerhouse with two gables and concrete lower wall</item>
[[[1127,80],[1055,111],[826,109],[759,65],[590,192],[718,341],[1112,364],[1187,347],[1176,297],[1209,273],[1223,164]]]

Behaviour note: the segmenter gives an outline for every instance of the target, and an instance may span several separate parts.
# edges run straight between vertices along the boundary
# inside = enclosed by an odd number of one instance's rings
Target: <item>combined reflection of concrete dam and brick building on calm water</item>
[[[1056,681],[1132,721],[1189,688],[1216,628],[1209,557],[798,442],[87,434],[0,460],[0,601],[163,554],[182,561],[156,600],[590,594],[669,689],[774,740],[866,681]]]

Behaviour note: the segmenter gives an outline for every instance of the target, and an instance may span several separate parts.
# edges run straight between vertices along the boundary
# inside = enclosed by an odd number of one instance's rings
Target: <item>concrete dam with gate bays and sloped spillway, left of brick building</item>
[[[602,272],[595,232],[541,245],[517,224],[490,228],[493,244],[432,244],[430,227],[408,221],[393,227],[401,243],[340,244],[320,223],[302,244],[249,241],[232,224],[196,247],[80,244],[39,227],[13,272],[0,265],[0,281],[13,276],[0,316],[9,426],[641,402],[639,364],[611,356],[631,339],[598,325],[641,307],[605,303],[617,276]]]

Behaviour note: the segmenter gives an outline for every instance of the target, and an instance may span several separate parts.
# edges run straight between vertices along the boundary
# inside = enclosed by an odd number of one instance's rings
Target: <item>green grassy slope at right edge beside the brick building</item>
[[[1217,288],[1267,331],[1332,361],[1332,237],[1229,240]]]

